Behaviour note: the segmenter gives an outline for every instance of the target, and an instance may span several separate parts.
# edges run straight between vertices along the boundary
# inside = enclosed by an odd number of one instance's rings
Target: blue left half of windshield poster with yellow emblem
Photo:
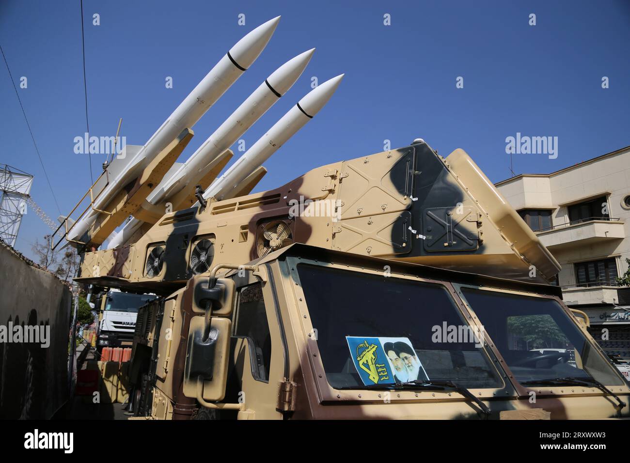
[[[353,363],[363,384],[396,382],[379,338],[346,336]]]

